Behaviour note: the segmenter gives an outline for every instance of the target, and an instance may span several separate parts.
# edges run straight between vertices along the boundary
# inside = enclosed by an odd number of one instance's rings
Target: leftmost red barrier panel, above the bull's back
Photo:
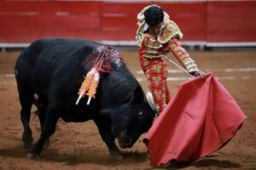
[[[39,37],[97,39],[100,8],[100,2],[1,2],[0,42],[31,42]]]

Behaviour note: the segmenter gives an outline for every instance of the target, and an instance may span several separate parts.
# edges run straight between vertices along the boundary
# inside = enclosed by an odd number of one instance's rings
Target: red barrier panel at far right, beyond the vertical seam
[[[256,1],[208,2],[207,42],[256,42]]]

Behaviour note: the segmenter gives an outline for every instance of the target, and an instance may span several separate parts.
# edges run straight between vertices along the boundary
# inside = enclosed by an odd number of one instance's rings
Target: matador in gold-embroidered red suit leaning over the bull
[[[137,19],[136,39],[139,60],[160,113],[170,100],[164,55],[172,52],[181,65],[195,77],[204,77],[204,73],[181,47],[179,40],[183,37],[183,33],[162,8],[157,5],[145,7],[137,14]]]

